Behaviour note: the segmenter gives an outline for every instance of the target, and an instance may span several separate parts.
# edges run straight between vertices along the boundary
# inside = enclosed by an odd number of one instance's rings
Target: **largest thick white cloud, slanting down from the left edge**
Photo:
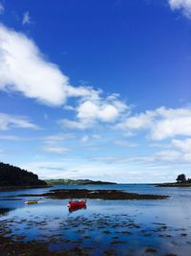
[[[18,91],[47,105],[68,97],[96,99],[92,87],[74,87],[59,67],[46,59],[31,38],[0,25],[0,89]]]

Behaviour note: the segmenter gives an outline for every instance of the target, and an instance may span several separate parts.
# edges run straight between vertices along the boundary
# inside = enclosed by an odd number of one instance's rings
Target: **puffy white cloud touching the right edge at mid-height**
[[[148,129],[153,140],[163,140],[177,135],[191,135],[191,108],[165,108],[131,116],[117,125],[117,128]]]

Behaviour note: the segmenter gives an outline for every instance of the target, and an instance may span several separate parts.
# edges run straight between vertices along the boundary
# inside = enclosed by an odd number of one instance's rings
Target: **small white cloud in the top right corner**
[[[191,18],[191,0],[168,0],[172,10],[181,10],[183,14]]]

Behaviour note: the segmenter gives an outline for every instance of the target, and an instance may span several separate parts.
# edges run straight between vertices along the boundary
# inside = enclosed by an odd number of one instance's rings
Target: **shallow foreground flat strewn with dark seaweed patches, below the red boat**
[[[190,251],[188,230],[166,222],[148,226],[137,220],[137,214],[69,216],[65,221],[56,217],[39,220],[36,216],[4,220],[0,225],[0,255],[190,255],[181,253],[185,247]],[[57,228],[53,230],[50,222]],[[17,233],[19,226],[22,233]],[[44,232],[29,239],[32,226]]]

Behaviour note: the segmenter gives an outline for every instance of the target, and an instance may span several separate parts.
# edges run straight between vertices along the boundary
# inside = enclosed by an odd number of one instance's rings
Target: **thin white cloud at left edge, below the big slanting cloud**
[[[14,116],[0,113],[0,129],[7,130],[9,128],[38,128],[32,124],[28,118],[22,116]]]

